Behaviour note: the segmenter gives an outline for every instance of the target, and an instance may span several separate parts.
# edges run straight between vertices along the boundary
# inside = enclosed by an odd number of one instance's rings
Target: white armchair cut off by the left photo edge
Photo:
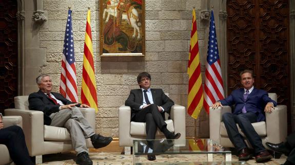
[[[3,117],[4,128],[17,125],[23,127],[22,116],[4,116]],[[5,145],[0,144],[0,165],[14,164],[10,158],[9,151]]]

